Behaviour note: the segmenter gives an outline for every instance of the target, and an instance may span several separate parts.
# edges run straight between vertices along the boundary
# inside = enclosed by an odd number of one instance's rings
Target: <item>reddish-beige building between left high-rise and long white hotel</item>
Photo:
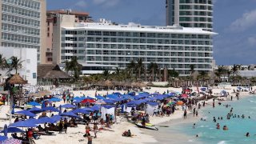
[[[60,55],[56,55],[54,47],[61,46],[61,27],[73,27],[74,23],[77,22],[93,21],[90,19],[89,13],[74,10],[48,10],[46,17],[46,49],[43,50],[44,54],[42,54],[45,57],[45,61],[42,64],[57,64],[56,57],[60,57]]]

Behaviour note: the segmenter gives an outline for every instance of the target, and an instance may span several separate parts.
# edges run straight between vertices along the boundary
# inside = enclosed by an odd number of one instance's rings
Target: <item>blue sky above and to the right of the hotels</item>
[[[166,0],[47,0],[48,10],[72,9],[94,20],[165,26]],[[256,64],[256,0],[214,0],[214,59],[218,65]]]

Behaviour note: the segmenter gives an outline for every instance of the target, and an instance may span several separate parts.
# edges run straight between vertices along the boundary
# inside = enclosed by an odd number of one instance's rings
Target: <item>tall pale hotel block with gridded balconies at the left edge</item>
[[[37,50],[37,60],[46,47],[46,0],[1,0],[0,45]]]

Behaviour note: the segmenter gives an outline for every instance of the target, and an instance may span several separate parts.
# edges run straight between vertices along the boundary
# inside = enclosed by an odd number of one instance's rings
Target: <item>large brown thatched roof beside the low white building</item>
[[[38,78],[72,78],[69,74],[62,71],[58,65],[39,65]]]

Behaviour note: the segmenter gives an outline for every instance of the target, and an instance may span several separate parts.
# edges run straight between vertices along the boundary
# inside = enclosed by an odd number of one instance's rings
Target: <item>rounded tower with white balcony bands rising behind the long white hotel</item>
[[[213,30],[213,0],[166,0],[166,26]]]

